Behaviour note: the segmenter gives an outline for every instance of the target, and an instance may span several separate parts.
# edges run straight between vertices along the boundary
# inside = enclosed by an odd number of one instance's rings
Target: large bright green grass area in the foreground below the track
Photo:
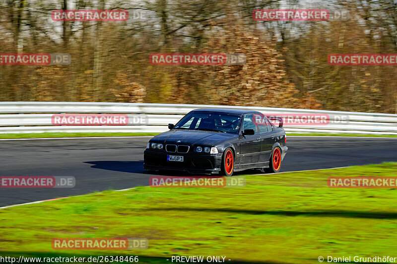
[[[170,263],[165,258],[172,255],[244,263],[397,257],[397,190],[327,187],[330,176],[397,176],[396,171],[397,163],[383,163],[246,175],[244,188],[137,187],[9,208],[0,210],[0,256],[136,254],[139,263]],[[105,237],[143,237],[149,248],[51,248],[52,238]]]

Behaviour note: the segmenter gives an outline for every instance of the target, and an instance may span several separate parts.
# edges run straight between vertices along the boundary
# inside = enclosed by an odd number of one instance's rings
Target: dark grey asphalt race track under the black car
[[[143,171],[143,150],[148,140],[149,137],[0,141],[0,176],[76,179],[74,188],[0,188],[0,207],[148,185],[152,174]],[[281,171],[397,161],[397,138],[287,137],[287,145]],[[242,174],[246,173],[259,172]]]

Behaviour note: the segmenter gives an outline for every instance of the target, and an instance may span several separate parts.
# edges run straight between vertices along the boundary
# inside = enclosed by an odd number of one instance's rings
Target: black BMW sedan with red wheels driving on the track
[[[275,126],[261,112],[202,108],[147,143],[144,169],[233,175],[257,168],[278,172],[288,150],[282,120]]]

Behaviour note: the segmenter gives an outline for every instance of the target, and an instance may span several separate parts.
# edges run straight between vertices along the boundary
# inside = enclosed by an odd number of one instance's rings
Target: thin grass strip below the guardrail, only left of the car
[[[130,136],[155,136],[159,133],[135,132],[135,133],[23,133],[0,134],[0,139],[12,138],[74,138],[74,137],[130,137]]]

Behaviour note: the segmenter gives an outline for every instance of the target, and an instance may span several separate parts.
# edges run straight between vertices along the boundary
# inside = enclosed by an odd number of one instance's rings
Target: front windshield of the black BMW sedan
[[[237,134],[241,115],[233,113],[193,111],[188,113],[174,129],[190,129]]]

